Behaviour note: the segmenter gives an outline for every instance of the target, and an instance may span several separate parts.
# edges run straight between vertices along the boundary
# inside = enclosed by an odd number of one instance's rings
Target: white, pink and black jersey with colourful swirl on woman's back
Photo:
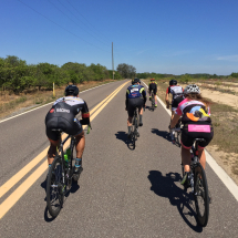
[[[210,108],[206,108],[205,104],[196,100],[183,100],[175,112],[182,116],[185,123],[211,123]]]

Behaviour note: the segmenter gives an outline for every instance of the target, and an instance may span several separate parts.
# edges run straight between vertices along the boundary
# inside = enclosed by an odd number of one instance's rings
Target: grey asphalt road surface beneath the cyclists
[[[106,84],[80,96],[92,110],[123,83]],[[206,228],[197,225],[193,196],[179,185],[180,149],[170,143],[169,116],[162,105],[155,112],[146,108],[136,148],[127,146],[128,85],[130,82],[92,121],[84,170],[60,215],[52,219],[48,214],[43,169],[0,219],[0,237],[237,237],[237,200],[209,165],[209,221]],[[0,123],[0,190],[49,146],[44,117],[50,107]],[[0,209],[6,201],[12,203],[14,192],[44,164],[45,157],[0,197]]]

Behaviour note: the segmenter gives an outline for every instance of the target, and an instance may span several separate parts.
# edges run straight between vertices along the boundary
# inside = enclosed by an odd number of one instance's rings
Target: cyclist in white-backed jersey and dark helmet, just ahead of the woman
[[[165,101],[167,104],[167,108],[169,108],[168,95],[172,94],[172,118],[174,117],[175,111],[178,104],[184,100],[184,90],[182,86],[177,85],[176,80],[169,81],[169,86],[166,90]]]

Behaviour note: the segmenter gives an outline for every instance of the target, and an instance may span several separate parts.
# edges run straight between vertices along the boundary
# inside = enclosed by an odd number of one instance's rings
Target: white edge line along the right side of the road
[[[143,82],[144,83],[144,82]],[[145,83],[144,83],[145,84]],[[146,84],[145,84],[146,85]],[[147,85],[146,85],[147,86]],[[148,87],[148,86],[147,86]],[[172,112],[166,108],[164,102],[157,96],[158,102],[162,104],[162,106],[167,111],[167,113],[170,115]],[[205,149],[206,154],[206,161],[209,164],[209,166],[213,168],[213,170],[217,174],[217,176],[220,178],[220,180],[224,183],[224,185],[228,188],[228,190],[234,195],[236,200],[238,201],[238,186],[237,184],[230,178],[230,176],[217,164],[215,158]]]

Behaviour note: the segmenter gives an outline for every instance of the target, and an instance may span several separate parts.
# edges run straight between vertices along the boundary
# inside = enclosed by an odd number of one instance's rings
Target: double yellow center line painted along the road
[[[91,121],[93,121],[96,115],[114,99],[114,96],[124,87],[124,85],[128,83],[125,82],[118,89],[116,89],[113,93],[111,93],[105,100],[103,100],[99,105],[103,105],[99,108],[92,116]],[[94,112],[95,107],[91,111]],[[85,128],[86,126],[83,126]],[[62,137],[66,137],[64,134]],[[65,143],[64,146],[70,145],[70,139]],[[49,147],[41,152],[33,161],[31,161],[28,165],[25,165],[19,173],[12,176],[4,185],[0,187],[0,197],[3,196],[11,187],[13,187],[24,175],[27,175],[38,163],[40,163],[48,152]],[[23,194],[34,184],[34,182],[46,170],[48,161],[45,159],[39,168],[37,168],[1,205],[0,205],[0,219],[11,209],[12,206],[23,196]]]

